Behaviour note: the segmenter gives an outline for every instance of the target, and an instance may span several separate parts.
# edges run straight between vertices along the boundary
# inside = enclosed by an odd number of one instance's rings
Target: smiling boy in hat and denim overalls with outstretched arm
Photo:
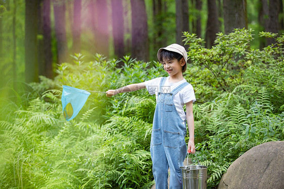
[[[153,175],[157,189],[168,188],[168,168],[170,168],[170,189],[182,188],[180,166],[186,157],[186,151],[195,153],[194,145],[194,117],[193,102],[194,90],[182,76],[186,70],[187,53],[184,47],[171,44],[158,50],[158,59],[167,78],[155,78],[138,84],[108,90],[107,96],[111,97],[122,92],[132,92],[147,88],[150,94],[156,94],[156,109],[153,120],[151,136],[151,158],[153,161]],[[186,114],[183,106],[186,105]],[[188,147],[184,137],[186,135],[187,120],[190,140]]]

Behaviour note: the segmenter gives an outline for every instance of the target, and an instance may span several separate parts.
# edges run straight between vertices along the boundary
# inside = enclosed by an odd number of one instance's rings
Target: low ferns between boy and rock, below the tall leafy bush
[[[201,164],[209,166],[207,181],[210,187],[218,184],[228,166],[250,148],[284,139],[284,119],[271,112],[272,106],[268,106],[271,102],[265,89],[255,95],[249,106],[240,103],[242,92],[227,93],[200,105],[203,114],[200,122],[204,131],[202,136],[198,136],[203,140],[196,148]],[[194,156],[193,159],[196,162]]]

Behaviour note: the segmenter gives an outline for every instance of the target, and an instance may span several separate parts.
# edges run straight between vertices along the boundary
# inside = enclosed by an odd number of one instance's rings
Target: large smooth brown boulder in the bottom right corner
[[[284,141],[268,142],[236,159],[222,176],[218,189],[284,188]]]

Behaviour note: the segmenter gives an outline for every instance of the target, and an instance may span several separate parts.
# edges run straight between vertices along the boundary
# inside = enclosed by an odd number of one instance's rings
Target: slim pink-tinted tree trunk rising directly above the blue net
[[[81,51],[81,0],[74,0],[72,34],[72,50],[75,53],[79,53]]]

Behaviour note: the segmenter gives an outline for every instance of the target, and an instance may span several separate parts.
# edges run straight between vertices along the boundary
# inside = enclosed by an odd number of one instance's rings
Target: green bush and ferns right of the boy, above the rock
[[[260,36],[276,35],[261,32]],[[195,34],[184,37],[193,62],[186,74],[202,102],[194,108],[199,111],[197,156],[208,166],[208,187],[214,188],[247,150],[284,139],[283,35],[262,50],[249,48],[249,30],[219,33],[212,49],[204,48]],[[204,75],[207,72],[211,74]]]

